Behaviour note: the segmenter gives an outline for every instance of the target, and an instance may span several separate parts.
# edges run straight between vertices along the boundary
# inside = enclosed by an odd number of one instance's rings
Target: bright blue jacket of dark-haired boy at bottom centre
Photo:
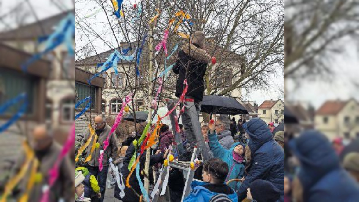
[[[183,202],[211,201],[218,194],[226,195],[232,201],[238,201],[236,192],[226,184],[210,184],[192,181],[192,191]]]

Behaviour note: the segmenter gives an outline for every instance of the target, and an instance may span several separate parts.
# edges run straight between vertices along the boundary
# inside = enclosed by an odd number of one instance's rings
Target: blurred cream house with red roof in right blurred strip
[[[355,99],[328,100],[316,111],[314,125],[330,140],[359,137],[359,103]]]

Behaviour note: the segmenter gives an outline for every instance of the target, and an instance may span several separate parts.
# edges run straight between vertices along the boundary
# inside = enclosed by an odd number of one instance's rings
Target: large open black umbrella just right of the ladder
[[[219,95],[203,96],[201,112],[228,115],[248,114],[246,108],[244,108],[236,99]]]

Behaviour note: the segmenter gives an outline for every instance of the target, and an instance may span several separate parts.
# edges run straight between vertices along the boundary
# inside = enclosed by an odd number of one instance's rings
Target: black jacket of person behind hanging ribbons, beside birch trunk
[[[140,146],[137,148],[137,150],[140,150]],[[140,198],[137,197],[137,195],[132,191],[132,189],[128,188],[126,186],[126,179],[127,179],[127,176],[129,176],[130,174],[130,170],[127,168],[129,163],[130,163],[130,160],[131,160],[131,157],[132,155],[134,154],[135,152],[135,146],[133,144],[131,144],[128,148],[127,148],[127,151],[126,151],[126,155],[125,155],[125,158],[123,158],[123,166],[120,170],[120,172],[122,173],[123,175],[123,182],[125,184],[125,196],[123,197],[123,199],[120,198],[119,194],[120,194],[120,189],[117,187],[117,185],[115,186],[115,192],[114,192],[114,196],[119,199],[119,200],[122,200],[123,202],[126,202],[126,201],[129,201],[129,202],[132,202],[132,201],[139,201]],[[163,162],[163,153],[161,154],[157,154],[157,155],[151,155],[150,156],[150,168],[154,165],[154,164],[157,164],[157,163],[162,163]],[[142,183],[144,182],[143,179],[144,179],[144,176],[142,175],[142,172],[141,170],[144,170],[145,168],[145,161],[146,161],[146,151],[143,152],[143,154],[141,154],[140,156],[140,178],[142,180]],[[153,174],[151,174],[151,171],[152,169],[149,169],[150,170],[150,173],[149,173],[149,180],[150,180],[150,183],[152,182],[153,183]],[[129,180],[129,184],[131,185],[131,187],[138,193],[138,194],[141,194],[141,189],[140,189],[140,185],[137,181],[137,178],[136,178],[136,170],[132,173],[131,177],[130,177],[130,180]]]

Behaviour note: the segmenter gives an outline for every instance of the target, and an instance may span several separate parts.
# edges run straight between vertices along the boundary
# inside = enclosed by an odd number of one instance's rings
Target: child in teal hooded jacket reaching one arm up
[[[213,131],[211,134],[208,131],[209,147],[213,153],[214,158],[220,158],[228,164],[229,172],[225,182],[230,179],[241,179],[244,176],[244,145],[236,142],[230,149],[225,149],[219,144],[217,133]],[[241,186],[241,182],[233,181],[228,184],[234,190]]]

